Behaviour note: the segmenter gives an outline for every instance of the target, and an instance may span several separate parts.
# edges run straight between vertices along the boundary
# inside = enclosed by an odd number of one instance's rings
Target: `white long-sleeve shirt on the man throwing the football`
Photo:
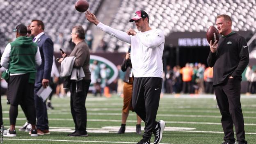
[[[115,30],[103,23],[98,28],[121,41],[131,44],[131,62],[135,78],[158,77],[162,78],[162,55],[165,45],[165,35],[160,29],[139,32],[135,36]]]

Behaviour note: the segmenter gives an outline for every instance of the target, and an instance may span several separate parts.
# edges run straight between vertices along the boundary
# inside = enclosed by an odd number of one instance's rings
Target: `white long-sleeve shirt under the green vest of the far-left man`
[[[0,62],[1,66],[3,66],[5,69],[9,69],[10,53],[11,53],[11,44],[8,43],[7,46],[5,47],[4,53],[2,54],[1,62]],[[40,50],[38,46],[37,46],[37,53],[35,55],[35,61],[38,66],[41,65],[42,59],[41,59]],[[21,74],[25,74],[25,73],[13,73],[10,75],[21,75]]]

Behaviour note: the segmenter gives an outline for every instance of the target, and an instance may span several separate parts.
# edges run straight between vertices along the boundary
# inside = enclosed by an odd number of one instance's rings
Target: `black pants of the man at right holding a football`
[[[222,114],[221,122],[224,130],[224,140],[235,140],[233,131],[233,124],[235,124],[237,141],[244,141],[245,128],[240,103],[240,80],[229,78],[227,82],[215,85],[213,88],[217,98],[219,111]]]

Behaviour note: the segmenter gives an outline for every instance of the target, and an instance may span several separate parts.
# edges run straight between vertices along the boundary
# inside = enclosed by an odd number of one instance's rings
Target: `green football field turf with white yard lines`
[[[25,123],[19,106],[16,121],[17,137],[4,137],[3,144],[136,144],[142,135],[135,134],[136,114],[130,112],[126,133],[117,134],[121,125],[123,98],[87,96],[88,137],[68,137],[74,131],[70,98],[53,97],[54,110],[48,110],[50,135],[31,137],[18,128]],[[160,144],[221,144],[223,131],[221,115],[214,95],[164,95],[160,99],[157,120],[166,122]],[[256,144],[256,96],[241,96],[248,144]],[[2,96],[3,119],[9,128],[9,105]],[[142,130],[144,122],[142,122]],[[142,131],[143,132],[143,131]],[[153,144],[154,137],[151,138]]]

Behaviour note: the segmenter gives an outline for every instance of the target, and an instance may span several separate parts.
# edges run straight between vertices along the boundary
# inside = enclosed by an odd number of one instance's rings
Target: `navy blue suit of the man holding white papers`
[[[37,73],[34,87],[34,99],[37,111],[37,129],[48,130],[46,103],[43,102],[42,98],[37,96],[37,91],[42,87],[43,79],[50,80],[50,73],[53,65],[53,41],[46,36],[46,34],[43,34],[39,39],[37,39],[36,43],[39,46],[42,59],[42,64],[36,67]]]

